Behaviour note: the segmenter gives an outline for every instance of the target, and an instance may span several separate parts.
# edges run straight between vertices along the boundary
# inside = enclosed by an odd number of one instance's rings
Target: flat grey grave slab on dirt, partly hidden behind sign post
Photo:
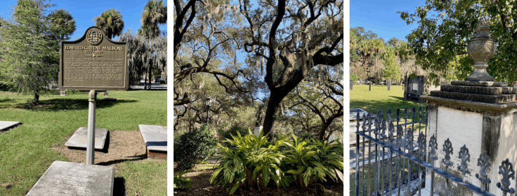
[[[106,136],[108,135],[108,129],[95,128],[95,149],[104,149],[104,143]],[[65,146],[86,148],[86,142],[88,140],[88,128],[81,127],[68,139]]]

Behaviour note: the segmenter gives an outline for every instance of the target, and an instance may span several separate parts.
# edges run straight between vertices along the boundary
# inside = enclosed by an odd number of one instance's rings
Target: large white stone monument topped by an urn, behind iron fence
[[[506,82],[494,82],[494,78],[486,73],[488,60],[495,54],[497,44],[490,36],[488,19],[481,17],[476,35],[467,44],[467,53],[474,60],[474,72],[465,81],[452,81],[451,85],[442,85],[440,91],[431,91],[429,96],[420,96],[429,103],[429,132],[427,144],[435,136],[438,146],[450,140],[453,153],[460,151],[465,145],[472,157],[466,162],[472,173],[465,176],[465,181],[479,186],[476,176],[479,171],[478,157],[486,153],[492,164],[491,170],[480,173],[480,179],[488,177],[492,183],[486,191],[494,195],[503,195],[496,182],[501,182],[502,175],[498,174],[501,162],[509,158],[510,163],[517,161],[517,91],[507,87]],[[442,150],[437,151],[435,165],[445,170],[442,163],[448,156]],[[457,166],[462,160],[458,155],[450,156],[450,161]],[[483,176],[483,175],[488,176]],[[430,175],[425,182],[431,182]],[[429,180],[429,181],[428,181]],[[515,179],[508,179],[515,186]],[[477,183],[475,183],[477,182]],[[442,185],[445,179],[435,175],[436,185]],[[425,183],[430,190],[431,183]],[[434,186],[434,192],[444,195],[445,190]],[[460,187],[449,188],[450,195],[459,195]],[[506,193],[505,193],[506,194]],[[473,195],[467,191],[461,195]]]

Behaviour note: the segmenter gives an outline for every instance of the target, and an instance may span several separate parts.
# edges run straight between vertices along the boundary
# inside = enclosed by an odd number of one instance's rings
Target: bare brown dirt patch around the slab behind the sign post
[[[75,133],[75,131],[73,133]],[[67,136],[65,141],[68,141],[73,133]],[[69,148],[65,145],[58,145],[50,149],[65,154],[68,158],[68,162],[86,162],[86,148]],[[140,138],[139,131],[108,131],[104,149],[95,150],[94,156],[95,165],[112,167],[115,167],[115,164],[121,162],[147,159],[145,155],[145,144]]]

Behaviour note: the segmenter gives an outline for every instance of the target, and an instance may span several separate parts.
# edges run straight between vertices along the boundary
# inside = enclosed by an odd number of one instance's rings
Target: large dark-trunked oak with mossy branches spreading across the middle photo
[[[264,133],[271,132],[270,139],[280,102],[309,70],[342,69],[341,1],[258,1],[256,6],[249,1],[174,2],[175,84],[208,73],[226,94],[256,100],[256,93],[263,91],[268,99]],[[236,63],[238,52],[247,54],[245,66]],[[226,61],[214,66],[213,59]],[[327,82],[323,72],[314,79],[318,85]],[[175,104],[190,102],[186,94],[174,98]]]

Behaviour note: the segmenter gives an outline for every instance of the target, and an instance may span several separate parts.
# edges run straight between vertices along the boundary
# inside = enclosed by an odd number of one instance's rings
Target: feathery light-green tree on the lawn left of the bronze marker
[[[19,93],[34,95],[28,103],[39,103],[39,96],[49,91],[57,80],[58,44],[75,29],[73,18],[63,10],[43,1],[20,0],[9,20],[0,27],[0,83]],[[63,14],[61,14],[63,13]]]

